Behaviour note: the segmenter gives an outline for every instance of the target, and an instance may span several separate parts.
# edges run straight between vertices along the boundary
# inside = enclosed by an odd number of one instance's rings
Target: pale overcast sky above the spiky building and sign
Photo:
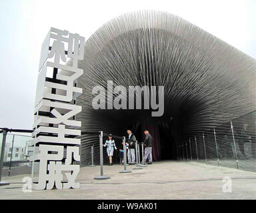
[[[0,0],[0,127],[32,128],[41,44],[50,27],[88,39],[110,19],[141,9],[179,15],[256,59],[255,0]]]

